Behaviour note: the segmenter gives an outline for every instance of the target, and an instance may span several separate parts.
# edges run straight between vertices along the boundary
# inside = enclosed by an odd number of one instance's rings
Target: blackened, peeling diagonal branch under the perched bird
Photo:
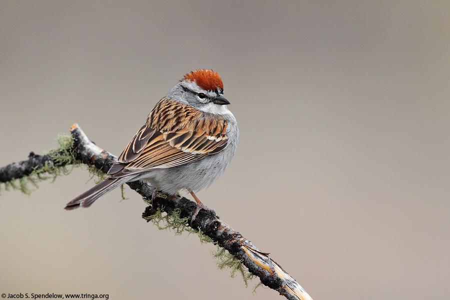
[[[84,164],[93,165],[106,173],[117,157],[95,145],[78,124],[73,124],[70,132],[74,142],[69,151],[74,154],[75,158]],[[67,149],[61,151],[67,151]],[[65,154],[65,152],[59,154]],[[28,157],[28,160],[1,167],[0,182],[8,182],[14,178],[27,176],[40,166],[64,166],[76,163],[69,159],[55,159],[57,155],[51,155],[51,153],[36,155],[30,152]],[[151,185],[146,184],[144,181],[133,181],[127,184],[145,199],[151,199],[154,191],[154,187]],[[172,213],[177,209],[179,217],[185,217],[190,220],[196,204],[185,197],[162,198],[157,196],[153,199],[153,205],[145,208],[143,217],[153,215],[158,208],[167,213]],[[188,224],[189,222],[187,222],[186,226]],[[287,299],[312,300],[308,293],[278,263],[269,257],[269,253],[262,252],[256,248],[251,241],[218,219],[213,212],[200,210],[192,223],[192,228],[201,230],[215,243],[228,250],[230,254],[242,261],[249,272],[258,276],[264,285],[278,291]]]

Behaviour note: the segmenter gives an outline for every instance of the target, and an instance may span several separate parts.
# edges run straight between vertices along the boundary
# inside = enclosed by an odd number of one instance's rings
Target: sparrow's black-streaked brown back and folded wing
[[[108,174],[121,177],[218,153],[226,147],[225,130],[226,121],[220,116],[162,98]]]

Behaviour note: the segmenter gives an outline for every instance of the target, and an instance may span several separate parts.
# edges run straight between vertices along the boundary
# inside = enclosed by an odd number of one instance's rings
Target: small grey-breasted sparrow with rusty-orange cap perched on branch
[[[211,210],[195,195],[228,167],[239,138],[237,121],[227,108],[223,83],[213,70],[183,76],[150,111],[107,172],[108,178],[75,197],[67,210],[89,207],[123,183],[146,180],[155,191],[174,195],[187,190],[200,209]]]

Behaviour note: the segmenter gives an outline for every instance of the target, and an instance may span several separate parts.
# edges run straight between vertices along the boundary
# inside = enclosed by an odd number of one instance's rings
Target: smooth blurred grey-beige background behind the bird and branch
[[[450,2],[0,1],[0,165],[78,122],[119,154],[185,73],[240,142],[199,198],[318,299],[450,294]],[[0,198],[0,293],[273,299],[84,169]],[[107,212],[107,213],[105,213]],[[257,283],[253,280],[251,286]]]

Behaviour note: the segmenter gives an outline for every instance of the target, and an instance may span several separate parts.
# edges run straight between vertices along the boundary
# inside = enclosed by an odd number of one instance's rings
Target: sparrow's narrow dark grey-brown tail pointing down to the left
[[[122,185],[126,181],[127,180],[123,177],[107,178],[68,202],[64,209],[70,210],[78,208],[79,206],[89,207],[93,202],[95,202],[96,199],[110,192],[117,186]]]

